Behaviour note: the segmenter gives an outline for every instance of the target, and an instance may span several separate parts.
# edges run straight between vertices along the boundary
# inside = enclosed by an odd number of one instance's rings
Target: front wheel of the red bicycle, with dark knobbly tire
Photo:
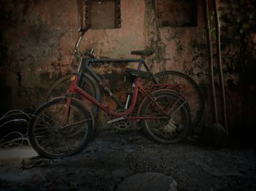
[[[72,99],[67,121],[67,125],[72,126],[59,128],[64,121],[65,109],[66,98],[53,98],[39,106],[31,117],[29,142],[42,157],[68,157],[82,151],[89,144],[94,125],[94,118],[89,109],[80,101]],[[79,121],[81,124],[78,124]]]

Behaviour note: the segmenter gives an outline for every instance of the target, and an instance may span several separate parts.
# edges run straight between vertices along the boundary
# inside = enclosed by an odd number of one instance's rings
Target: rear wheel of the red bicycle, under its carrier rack
[[[158,90],[156,93],[152,93],[152,96],[165,112],[170,108],[176,112],[173,112],[168,120],[141,120],[143,129],[154,141],[162,144],[174,144],[182,141],[192,129],[187,100],[172,90]],[[163,115],[157,111],[157,107],[152,103],[149,98],[143,100],[140,116]]]

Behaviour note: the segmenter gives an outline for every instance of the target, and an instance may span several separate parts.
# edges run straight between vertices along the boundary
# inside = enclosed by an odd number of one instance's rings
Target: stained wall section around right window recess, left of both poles
[[[210,122],[211,101],[203,6],[203,1],[198,1],[196,27],[157,27],[155,1],[146,0],[146,46],[157,47],[155,54],[148,58],[155,72],[182,71],[200,85],[206,98],[206,122]]]

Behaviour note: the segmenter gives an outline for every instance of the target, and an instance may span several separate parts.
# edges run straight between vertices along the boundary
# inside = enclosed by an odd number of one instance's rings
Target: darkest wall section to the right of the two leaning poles
[[[252,0],[219,1],[227,116],[233,132],[252,140],[256,133],[255,7]]]

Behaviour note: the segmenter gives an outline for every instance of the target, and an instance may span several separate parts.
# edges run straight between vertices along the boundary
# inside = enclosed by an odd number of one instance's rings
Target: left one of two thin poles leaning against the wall
[[[216,101],[216,93],[214,87],[214,59],[212,55],[212,45],[211,45],[211,28],[210,28],[210,20],[209,20],[209,9],[208,9],[208,0],[205,0],[205,13],[206,13],[206,33],[207,33],[207,44],[208,44],[208,63],[210,68],[210,83],[211,83],[211,103],[214,109],[213,117],[214,122],[218,122],[217,115],[217,101]]]

